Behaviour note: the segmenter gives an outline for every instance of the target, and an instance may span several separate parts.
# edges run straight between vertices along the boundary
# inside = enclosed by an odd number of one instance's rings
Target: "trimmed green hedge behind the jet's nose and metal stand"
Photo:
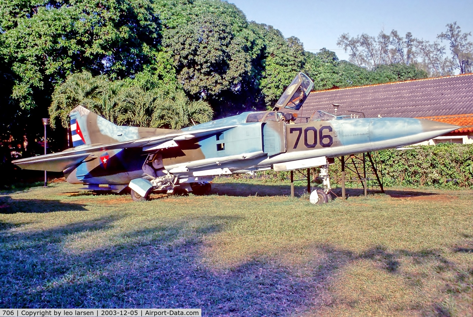
[[[381,162],[383,185],[388,186],[435,186],[443,188],[473,187],[473,145],[438,144],[419,146],[408,150],[384,150],[373,153]],[[369,164],[369,162],[367,161]],[[312,180],[318,176],[313,169]],[[332,183],[341,182],[341,163],[335,159],[330,166]],[[241,176],[240,176],[241,177]],[[243,176],[245,177],[245,176]],[[258,172],[257,177],[268,181],[289,180],[289,171]],[[346,179],[357,175],[346,171]],[[347,183],[356,186],[356,183]]]

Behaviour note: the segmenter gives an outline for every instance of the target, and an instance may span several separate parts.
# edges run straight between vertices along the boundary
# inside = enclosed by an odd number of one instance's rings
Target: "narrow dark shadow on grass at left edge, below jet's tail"
[[[49,213],[54,211],[87,211],[85,205],[62,203],[53,199],[13,199],[0,197],[0,214]]]

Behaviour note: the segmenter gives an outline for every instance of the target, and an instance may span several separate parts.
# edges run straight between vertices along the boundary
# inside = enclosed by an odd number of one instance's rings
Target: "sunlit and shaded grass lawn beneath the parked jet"
[[[472,316],[473,190],[350,189],[314,206],[257,180],[144,203],[79,188],[0,195],[2,308]]]

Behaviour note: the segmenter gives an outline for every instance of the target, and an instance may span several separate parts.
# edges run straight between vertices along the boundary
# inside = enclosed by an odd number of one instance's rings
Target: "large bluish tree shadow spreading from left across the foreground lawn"
[[[311,248],[320,257],[303,266],[289,265],[285,257],[261,256],[231,269],[212,269],[202,262],[202,238],[223,231],[238,217],[158,219],[148,228],[109,233],[124,216],[44,231],[1,227],[0,307],[202,308],[204,316],[293,316],[333,305],[330,279],[360,259],[375,261],[390,274],[400,274],[403,257],[454,268],[438,251],[377,246],[355,254],[316,244]],[[96,233],[113,243],[83,252],[65,247],[78,236],[94,238]]]

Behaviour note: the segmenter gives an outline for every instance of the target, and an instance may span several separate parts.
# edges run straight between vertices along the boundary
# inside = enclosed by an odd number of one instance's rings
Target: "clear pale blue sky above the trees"
[[[377,35],[392,29],[399,34],[435,41],[447,23],[457,22],[463,32],[473,33],[473,0],[316,1],[316,0],[228,0],[249,21],[274,26],[285,37],[297,36],[307,51],[325,47],[348,60],[337,47],[342,33]],[[473,37],[470,37],[473,41]],[[444,43],[445,45],[447,43]]]

